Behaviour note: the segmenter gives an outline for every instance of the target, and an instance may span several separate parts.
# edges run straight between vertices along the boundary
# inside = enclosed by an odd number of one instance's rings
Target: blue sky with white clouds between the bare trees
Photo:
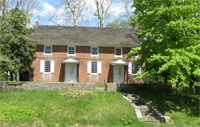
[[[34,8],[31,10],[32,18],[31,18],[31,26],[35,25],[36,21],[39,21],[39,25],[56,25],[55,23],[48,21],[53,17],[53,20],[65,26],[73,26],[71,22],[66,23],[66,16],[63,15],[64,9],[63,6],[59,5],[60,0],[39,0],[40,7]],[[104,0],[106,1],[106,0]],[[131,0],[130,0],[131,1]],[[86,0],[87,6],[89,9],[83,11],[83,20],[80,21],[79,26],[88,26],[88,27],[98,27],[97,16],[94,16],[96,11],[96,6],[94,0]],[[134,9],[131,7],[133,3],[130,3],[129,10],[132,12]],[[125,12],[124,4],[121,0],[114,0],[113,5],[109,10],[109,16],[107,17],[106,22],[112,21],[116,18],[124,18],[120,17]],[[70,19],[70,17],[68,18]],[[72,21],[72,20],[70,20]]]

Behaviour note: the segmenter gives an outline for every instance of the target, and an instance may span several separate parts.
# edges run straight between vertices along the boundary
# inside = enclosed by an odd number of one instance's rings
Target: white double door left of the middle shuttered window
[[[77,64],[65,64],[65,81],[76,82]]]

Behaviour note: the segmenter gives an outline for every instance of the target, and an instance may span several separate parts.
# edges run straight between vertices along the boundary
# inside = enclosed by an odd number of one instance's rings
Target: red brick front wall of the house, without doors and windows
[[[76,56],[72,56],[80,61],[77,65],[77,81],[86,83],[112,83],[113,82],[113,66],[111,61],[118,59],[114,55],[114,47],[99,47],[99,56],[91,56],[90,46],[76,46]],[[127,62],[135,61],[136,59],[128,59],[128,52],[131,48],[123,48],[123,59]],[[30,80],[37,82],[63,82],[65,78],[65,66],[62,61],[67,56],[67,46],[52,46],[52,55],[44,55],[44,46],[37,45],[35,59],[32,62],[30,73]],[[40,73],[40,60],[54,60],[54,74],[41,74]],[[87,62],[99,61],[102,64],[101,75],[89,75],[87,74]],[[124,66],[124,81],[127,83],[134,82],[130,75],[128,75],[127,66]]]

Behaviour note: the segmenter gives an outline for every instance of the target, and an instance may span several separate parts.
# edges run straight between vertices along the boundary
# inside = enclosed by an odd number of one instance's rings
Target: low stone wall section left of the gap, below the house
[[[94,83],[53,83],[53,82],[26,82],[21,85],[8,85],[6,82],[0,82],[0,89],[59,89],[59,90],[95,90]]]

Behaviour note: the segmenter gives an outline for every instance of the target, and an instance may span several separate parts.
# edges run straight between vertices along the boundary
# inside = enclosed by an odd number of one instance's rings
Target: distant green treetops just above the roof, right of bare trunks
[[[120,19],[114,19],[112,21],[109,21],[106,24],[106,27],[111,28],[130,28],[131,27],[131,20],[120,20]]]

